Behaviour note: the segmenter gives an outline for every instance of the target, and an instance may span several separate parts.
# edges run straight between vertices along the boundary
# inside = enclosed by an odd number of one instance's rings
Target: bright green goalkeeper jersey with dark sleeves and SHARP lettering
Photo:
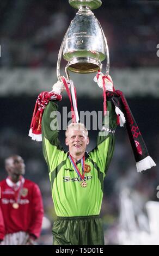
[[[81,187],[78,174],[72,166],[69,155],[60,146],[57,129],[52,129],[53,114],[57,101],[50,101],[42,117],[42,148],[48,165],[52,198],[57,216],[99,215],[103,197],[103,180],[114,151],[114,131],[117,115],[111,101],[107,101],[108,116],[105,126],[97,137],[97,146],[85,152],[85,175],[87,187]],[[76,162],[82,173],[81,161]]]

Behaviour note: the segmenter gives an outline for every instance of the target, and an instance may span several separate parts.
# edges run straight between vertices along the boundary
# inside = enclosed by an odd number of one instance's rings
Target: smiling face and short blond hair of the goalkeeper
[[[78,156],[84,153],[87,145],[89,144],[89,138],[86,136],[84,130],[75,130],[71,128],[68,131],[65,143],[69,146],[70,154]]]

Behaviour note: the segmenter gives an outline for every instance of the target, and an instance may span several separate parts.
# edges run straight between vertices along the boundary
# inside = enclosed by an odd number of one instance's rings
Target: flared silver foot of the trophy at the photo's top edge
[[[91,10],[97,9],[101,6],[102,1],[101,0],[69,0],[69,4],[71,7],[74,7],[76,9],[79,9],[80,7],[88,7]]]

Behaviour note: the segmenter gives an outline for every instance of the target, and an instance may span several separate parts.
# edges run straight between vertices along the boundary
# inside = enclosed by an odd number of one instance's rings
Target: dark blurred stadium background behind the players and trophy
[[[102,2],[94,14],[107,37],[110,75],[115,88],[125,93],[149,154],[158,163],[159,2]],[[0,179],[6,175],[5,157],[21,155],[26,163],[25,177],[41,188],[46,218],[38,242],[45,245],[52,243],[51,226],[56,215],[41,143],[31,141],[28,130],[36,96],[42,90],[51,90],[57,81],[58,51],[75,14],[67,0],[0,2]],[[93,82],[93,76],[71,74],[77,88],[79,111],[102,110],[102,91]],[[65,93],[61,110],[63,106],[70,108]],[[95,147],[96,135],[95,131],[89,132],[89,149]],[[60,141],[64,141],[63,132]],[[118,128],[101,211],[106,244],[159,244],[158,221],[155,220],[153,231],[151,210],[149,216],[146,211],[148,201],[158,203],[158,178],[158,166],[137,174],[126,130]],[[156,206],[153,212],[158,211]]]

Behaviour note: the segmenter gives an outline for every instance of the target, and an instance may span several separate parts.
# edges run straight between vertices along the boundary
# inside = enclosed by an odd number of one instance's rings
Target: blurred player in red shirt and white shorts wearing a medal
[[[0,182],[0,245],[34,245],[44,215],[38,185],[23,178],[21,156],[5,160],[8,177]]]

